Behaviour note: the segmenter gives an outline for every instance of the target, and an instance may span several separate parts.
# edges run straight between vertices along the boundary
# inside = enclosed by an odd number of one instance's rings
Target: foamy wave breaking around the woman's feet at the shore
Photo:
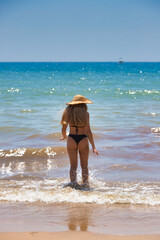
[[[75,190],[63,187],[67,180],[2,180],[0,201],[160,205],[160,182],[103,182],[91,178],[91,188]]]

